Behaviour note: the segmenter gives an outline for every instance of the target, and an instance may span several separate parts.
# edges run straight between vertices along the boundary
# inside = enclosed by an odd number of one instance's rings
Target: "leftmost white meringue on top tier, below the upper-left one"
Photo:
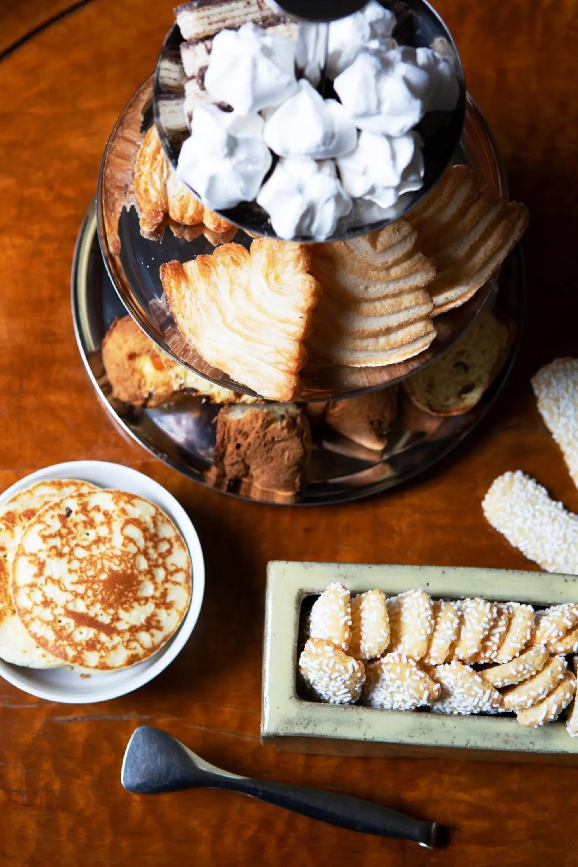
[[[271,162],[262,117],[197,106],[177,174],[206,207],[220,211],[255,199]]]

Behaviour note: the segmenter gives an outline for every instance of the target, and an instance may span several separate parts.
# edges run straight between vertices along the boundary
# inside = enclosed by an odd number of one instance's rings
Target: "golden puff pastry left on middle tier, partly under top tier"
[[[158,240],[165,225],[205,227],[220,236],[221,243],[237,231],[196,199],[172,171],[160,144],[157,127],[146,132],[134,161],[134,198],[139,211],[140,233]],[[231,234],[232,232],[232,234]]]

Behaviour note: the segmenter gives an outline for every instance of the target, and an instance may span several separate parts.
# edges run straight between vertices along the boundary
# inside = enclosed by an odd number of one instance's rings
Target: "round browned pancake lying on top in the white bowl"
[[[45,506],[16,551],[12,596],[29,634],[68,665],[111,671],[156,653],[191,601],[185,540],[148,500],[94,491]]]

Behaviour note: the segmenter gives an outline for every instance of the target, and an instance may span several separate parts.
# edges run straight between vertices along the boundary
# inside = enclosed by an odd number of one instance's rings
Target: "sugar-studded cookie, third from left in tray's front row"
[[[469,665],[454,659],[427,669],[441,694],[432,704],[435,714],[495,714],[502,696]]]

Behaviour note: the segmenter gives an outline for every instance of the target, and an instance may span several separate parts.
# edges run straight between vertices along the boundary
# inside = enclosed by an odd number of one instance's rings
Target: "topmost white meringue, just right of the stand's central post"
[[[328,36],[328,76],[335,78],[351,66],[361,49],[393,48],[391,36],[395,27],[393,12],[371,0],[359,12],[332,21]]]

